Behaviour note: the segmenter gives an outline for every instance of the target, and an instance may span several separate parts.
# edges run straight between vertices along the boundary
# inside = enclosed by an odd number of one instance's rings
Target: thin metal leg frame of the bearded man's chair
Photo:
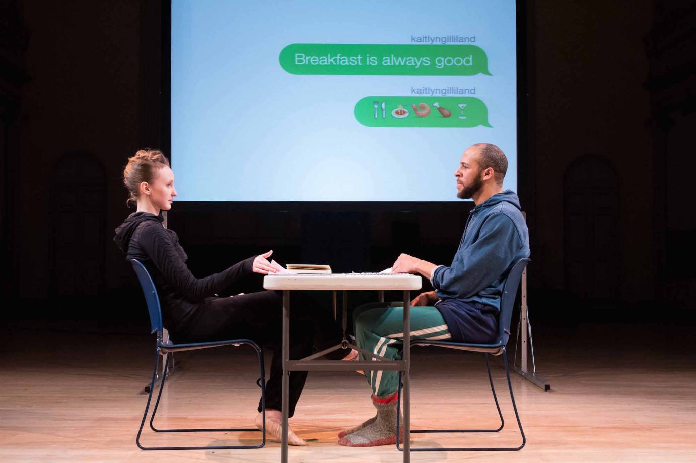
[[[495,430],[485,430],[485,429],[448,429],[448,430],[411,430],[411,432],[419,432],[419,433],[443,433],[443,432],[500,432],[500,430],[503,429],[503,426],[505,426],[505,420],[503,419],[503,412],[500,411],[500,404],[498,403],[498,396],[496,396],[496,388],[493,386],[493,377],[491,376],[491,366],[489,364],[488,360],[488,354],[484,354],[484,358],[486,359],[486,368],[488,371],[488,380],[491,383],[491,391],[493,392],[493,400],[496,402],[496,409],[498,409],[498,416],[500,417],[500,427]],[[474,452],[474,451],[503,451],[503,450],[521,450],[525,446],[526,443],[526,438],[524,435],[524,432],[522,430],[522,423],[519,418],[519,413],[517,412],[517,405],[515,403],[514,396],[512,394],[512,383],[510,382],[510,374],[509,374],[509,367],[507,365],[507,352],[505,352],[505,348],[503,348],[503,362],[505,362],[505,375],[507,376],[507,387],[509,388],[510,391],[510,398],[512,400],[512,407],[515,412],[515,417],[517,419],[517,424],[519,425],[520,433],[522,434],[522,445],[516,448],[490,448],[490,447],[461,447],[461,448],[413,448],[411,447],[411,452]],[[397,416],[396,416],[396,426],[397,430],[399,429],[399,422],[400,422],[400,410],[401,410],[401,375],[402,373],[399,372],[399,387],[397,390]],[[404,439],[407,439],[408,437],[404,436]],[[397,436],[396,436],[396,446],[398,450],[403,451],[404,449],[400,446],[399,442],[399,433],[397,431]]]

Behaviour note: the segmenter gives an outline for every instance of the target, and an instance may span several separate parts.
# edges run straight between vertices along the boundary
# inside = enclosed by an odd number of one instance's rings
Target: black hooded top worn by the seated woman
[[[168,330],[177,332],[205,298],[251,274],[255,256],[198,279],[186,265],[188,258],[179,237],[165,229],[162,221],[155,214],[134,212],[116,228],[113,241],[126,259],[138,259],[148,269],[157,287],[162,322]]]

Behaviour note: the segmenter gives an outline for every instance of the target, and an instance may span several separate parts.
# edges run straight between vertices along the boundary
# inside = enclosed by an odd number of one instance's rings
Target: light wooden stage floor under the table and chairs
[[[514,375],[527,434],[516,453],[413,453],[413,462],[695,462],[696,356],[663,347],[650,330],[616,327],[570,338],[537,339],[537,366],[551,382],[543,392]],[[685,330],[688,331],[688,330]],[[679,333],[675,336],[683,336]],[[690,335],[693,339],[693,334]],[[625,339],[624,339],[625,338]],[[613,342],[616,341],[616,342]],[[40,343],[33,346],[32,342]],[[617,347],[612,347],[615,343]],[[135,434],[147,396],[154,339],[149,336],[19,331],[0,351],[2,462],[278,462],[279,444],[260,450],[143,452]],[[677,346],[676,342],[667,343]],[[51,346],[51,347],[46,347]],[[412,428],[496,425],[481,355],[420,348],[413,354]],[[253,355],[244,348],[177,357],[161,403],[162,426],[251,426],[258,388]],[[502,359],[493,362],[505,430],[498,435],[415,434],[413,447],[515,446],[520,441]],[[291,419],[311,439],[290,448],[291,462],[400,462],[393,446],[344,448],[336,434],[372,416],[365,380],[313,373]],[[252,443],[257,433],[147,432],[149,445]]]

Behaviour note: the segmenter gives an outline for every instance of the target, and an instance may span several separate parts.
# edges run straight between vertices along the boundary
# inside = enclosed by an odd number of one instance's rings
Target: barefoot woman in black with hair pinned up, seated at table
[[[177,234],[162,225],[160,211],[171,209],[174,197],[174,173],[164,154],[157,150],[141,149],[123,171],[123,181],[129,190],[128,202],[136,202],[137,211],[116,229],[116,244],[127,259],[138,259],[152,276],[161,301],[163,324],[177,343],[253,339],[273,350],[271,374],[266,385],[267,430],[280,438],[281,364],[281,296],[277,291],[260,291],[216,297],[237,279],[251,273],[276,273],[268,258],[273,251],[235,263],[220,273],[196,278],[187,267],[187,255],[179,244]],[[295,304],[294,307],[297,307]],[[298,311],[294,311],[298,313]],[[316,316],[326,314],[324,325],[317,327]],[[340,339],[338,326],[328,319],[328,311],[317,311],[313,319],[293,315],[290,332],[290,359],[311,355],[313,336],[329,338],[332,333]],[[297,321],[299,320],[299,321]],[[295,405],[307,378],[306,371],[290,373],[288,416]],[[259,405],[259,412],[261,406]],[[255,421],[262,428],[262,415]],[[288,430],[288,444],[306,446],[306,441]]]

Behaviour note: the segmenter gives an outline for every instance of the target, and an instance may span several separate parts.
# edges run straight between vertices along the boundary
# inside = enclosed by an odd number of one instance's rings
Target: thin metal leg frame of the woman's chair
[[[251,431],[251,432],[262,432],[263,433],[263,439],[262,443],[256,446],[191,446],[191,447],[143,447],[140,444],[140,436],[141,432],[143,430],[143,425],[145,424],[145,419],[147,418],[148,415],[148,408],[150,407],[150,400],[152,398],[152,389],[155,389],[155,379],[157,377],[157,365],[159,364],[159,348],[157,348],[157,357],[155,357],[155,368],[152,373],[152,382],[150,382],[150,393],[148,394],[148,402],[145,405],[145,413],[143,414],[143,421],[141,422],[140,429],[138,431],[138,437],[136,438],[136,444],[138,444],[138,447],[141,448],[141,450],[232,450],[232,449],[242,449],[242,448],[262,448],[266,445],[266,402],[265,402],[265,391],[266,391],[266,375],[265,375],[265,368],[264,368],[264,363],[263,363],[263,351],[261,348],[255,344],[255,343],[240,343],[240,344],[247,344],[248,346],[251,346],[254,350],[256,350],[259,363],[260,363],[260,372],[261,372],[261,377],[259,378],[259,382],[257,384],[261,387],[261,394],[262,394],[262,414],[263,414],[263,429],[259,430],[257,428],[205,428],[205,429],[158,429],[155,428],[153,421],[155,420],[155,414],[157,414],[157,407],[159,406],[159,400],[162,395],[162,390],[164,389],[164,382],[166,380],[166,375],[162,377],[161,383],[159,384],[159,392],[157,393],[157,400],[155,401],[155,406],[152,409],[152,416],[150,417],[150,428],[152,428],[153,431],[155,432],[232,432],[232,431]],[[169,363],[169,358],[171,356],[167,356],[164,368],[166,371],[166,368],[168,367]],[[259,384],[260,383],[260,384]]]

